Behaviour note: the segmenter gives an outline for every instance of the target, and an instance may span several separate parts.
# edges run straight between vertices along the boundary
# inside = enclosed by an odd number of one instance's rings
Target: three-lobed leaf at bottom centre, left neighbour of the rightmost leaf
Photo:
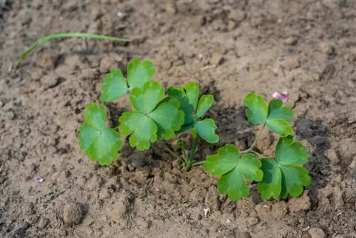
[[[234,145],[225,145],[216,155],[206,157],[203,166],[206,172],[220,177],[217,182],[219,192],[227,194],[233,201],[248,197],[250,191],[246,180],[261,181],[263,178],[261,161],[253,154],[240,158]]]

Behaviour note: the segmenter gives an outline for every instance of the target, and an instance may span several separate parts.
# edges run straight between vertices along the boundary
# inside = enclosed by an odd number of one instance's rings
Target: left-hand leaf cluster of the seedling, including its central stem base
[[[179,140],[182,155],[177,155],[163,143],[164,148],[182,161],[189,170],[200,162],[193,163],[198,148],[198,135],[209,143],[217,143],[216,125],[211,118],[202,118],[213,105],[213,95],[201,95],[197,83],[187,83],[185,88],[169,87],[166,90],[153,80],[155,67],[151,61],[134,59],[127,65],[127,78],[120,69],[113,69],[103,81],[100,100],[111,102],[130,94],[132,110],[122,113],[120,125],[106,128],[104,105],[90,103],[85,108],[83,125],[80,126],[79,143],[85,155],[100,165],[110,165],[122,148],[122,136],[137,150],[147,150],[157,140],[170,140],[176,135],[192,133],[189,156],[186,143]]]

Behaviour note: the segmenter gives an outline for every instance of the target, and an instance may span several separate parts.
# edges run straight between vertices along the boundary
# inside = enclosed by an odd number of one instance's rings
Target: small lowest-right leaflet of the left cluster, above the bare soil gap
[[[194,123],[194,128],[197,129],[197,133],[201,138],[208,143],[217,143],[219,141],[219,135],[216,135],[216,125],[213,119],[206,118],[204,120],[198,120]]]

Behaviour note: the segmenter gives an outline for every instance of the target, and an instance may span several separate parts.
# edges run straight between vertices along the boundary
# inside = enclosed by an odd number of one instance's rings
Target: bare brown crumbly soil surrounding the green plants
[[[354,0],[0,1],[0,237],[356,237],[355,21]],[[135,41],[53,41],[8,73],[23,48],[62,31]],[[76,140],[83,109],[136,57],[165,85],[214,93],[219,145],[251,144],[248,91],[288,90],[313,185],[297,199],[261,201],[253,187],[230,202],[158,145],[95,165]],[[115,119],[127,100],[109,106]],[[258,148],[272,144],[266,134]]]

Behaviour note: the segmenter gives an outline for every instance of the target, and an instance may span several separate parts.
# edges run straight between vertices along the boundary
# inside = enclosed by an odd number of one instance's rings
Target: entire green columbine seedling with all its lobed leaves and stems
[[[214,104],[213,95],[200,95],[197,83],[190,82],[185,87],[171,86],[165,90],[155,81],[155,67],[151,61],[134,59],[128,63],[127,77],[120,69],[112,69],[103,81],[100,100],[111,102],[129,93],[131,111],[122,113],[120,125],[107,127],[107,110],[104,105],[90,103],[84,111],[84,122],[80,126],[79,144],[85,155],[100,165],[110,165],[117,160],[117,152],[122,148],[122,137],[137,150],[147,150],[152,143],[171,140],[190,133],[192,145],[187,152],[187,141],[178,140],[182,155],[171,150],[164,142],[167,152],[182,162],[190,170],[203,165],[206,172],[218,177],[219,192],[231,200],[248,197],[249,182],[258,182],[257,190],[264,200],[288,195],[298,197],[305,186],[310,185],[308,170],[303,167],[308,161],[308,152],[293,140],[293,111],[283,105],[281,99],[269,103],[261,95],[248,93],[244,100],[246,115],[253,125],[261,125],[276,133],[280,138],[274,157],[266,157],[255,150],[261,132],[251,147],[240,151],[235,145],[224,145],[216,155],[209,155],[204,161],[194,162],[199,138],[208,143],[219,142],[216,125],[211,118],[204,118]]]

